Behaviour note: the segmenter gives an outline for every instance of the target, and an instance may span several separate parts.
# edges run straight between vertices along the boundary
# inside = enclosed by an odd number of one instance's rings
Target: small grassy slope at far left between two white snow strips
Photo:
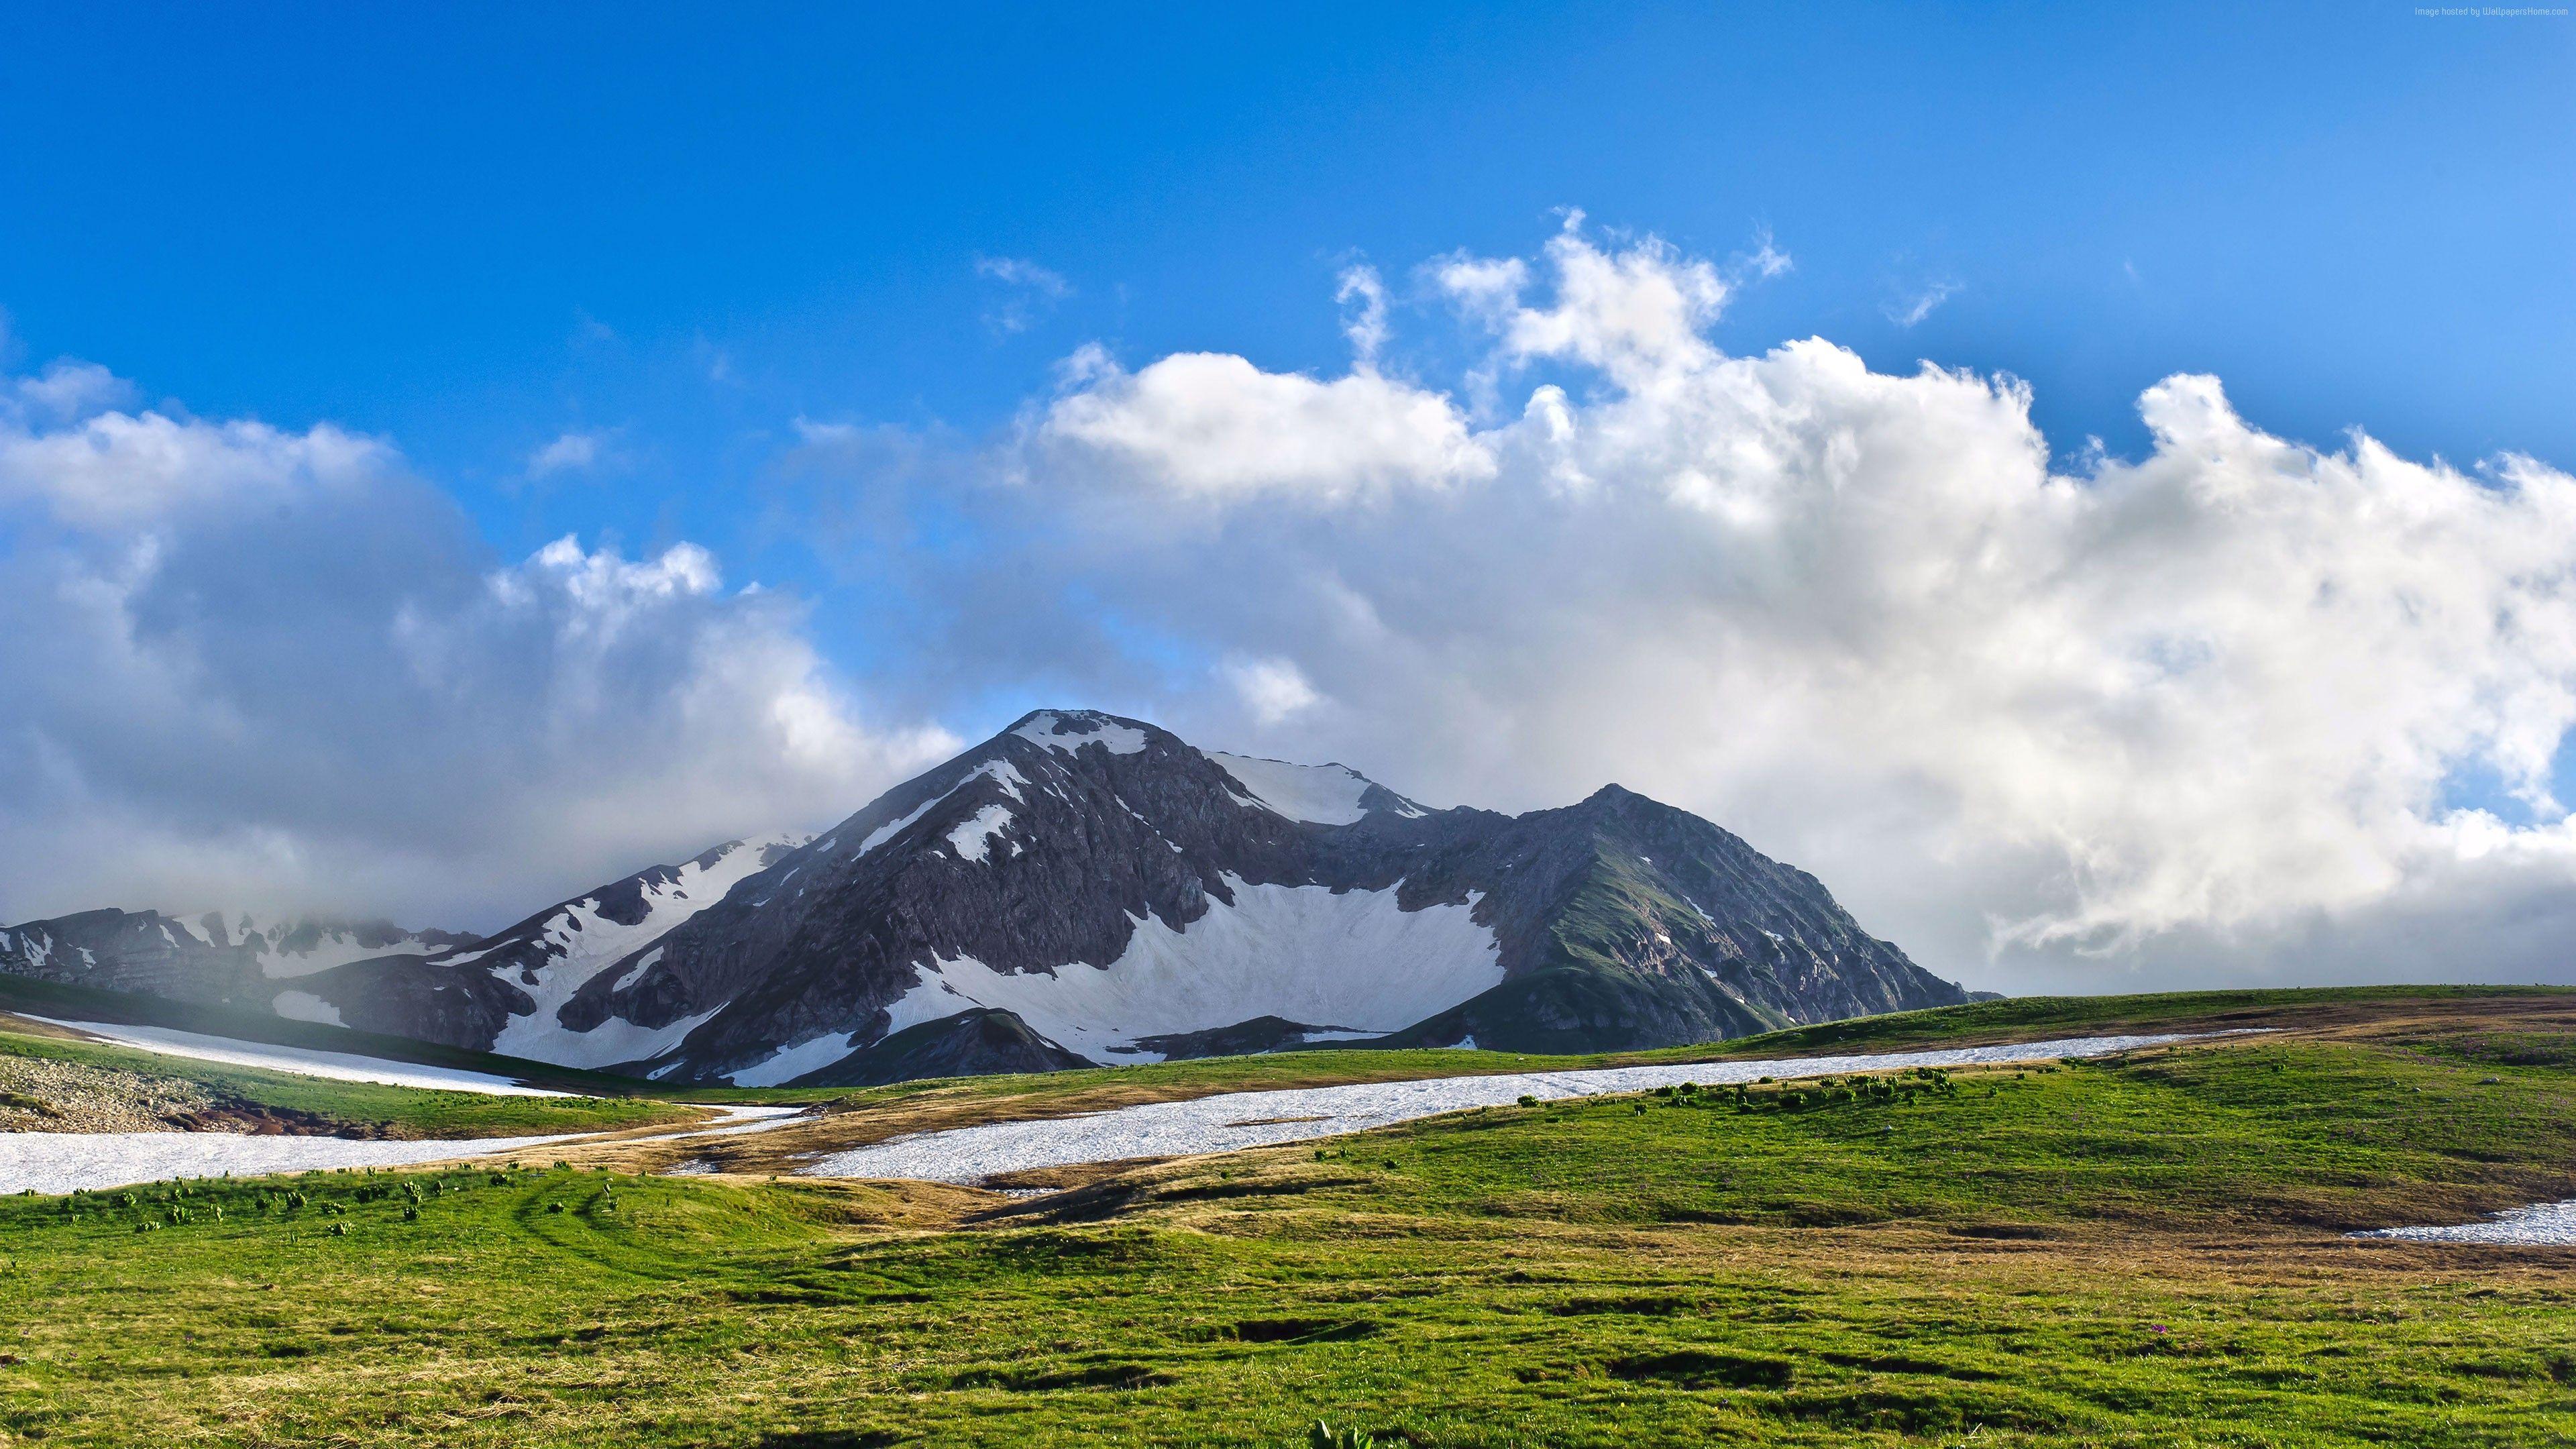
[[[0,1026],[0,1106],[18,1109],[10,1111],[13,1127],[21,1122],[41,1124],[44,1109],[54,1106],[44,1101],[44,1093],[5,1091],[15,1078],[10,1073],[15,1062],[90,1067],[82,1073],[90,1093],[113,1093],[131,1083],[185,1083],[204,1104],[198,1119],[234,1129],[283,1127],[350,1137],[541,1137],[693,1116],[688,1109],[641,1098],[489,1096],[301,1078]]]

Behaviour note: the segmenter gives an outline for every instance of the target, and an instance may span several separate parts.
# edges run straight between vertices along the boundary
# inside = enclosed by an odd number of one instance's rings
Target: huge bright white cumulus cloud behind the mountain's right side
[[[981,619],[1079,593],[1229,660],[1180,724],[1412,794],[1646,789],[2004,985],[2566,975],[2496,913],[2576,900],[2568,474],[2293,443],[2208,376],[2141,397],[2146,456],[2058,469],[2009,376],[1726,356],[1716,268],[1579,222],[1432,281],[1492,376],[1571,374],[1479,425],[1365,366],[1074,369],[984,503],[1046,544]],[[1136,492],[1203,508],[1090,505]]]

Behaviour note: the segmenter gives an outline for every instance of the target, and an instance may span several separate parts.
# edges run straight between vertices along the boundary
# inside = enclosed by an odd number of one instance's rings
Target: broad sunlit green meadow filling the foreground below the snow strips
[[[2246,1013],[2277,1031],[1036,1199],[551,1163],[0,1199],[0,1444],[2576,1441],[2576,1250],[2342,1238],[2576,1196],[2568,993],[1991,1003],[1798,1049]],[[1041,1088],[845,1116],[927,1091]]]

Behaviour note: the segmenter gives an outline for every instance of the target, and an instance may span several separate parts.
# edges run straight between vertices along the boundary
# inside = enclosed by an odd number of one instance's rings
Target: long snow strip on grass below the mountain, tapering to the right
[[[917,1132],[832,1152],[799,1168],[827,1178],[920,1178],[935,1183],[979,1183],[999,1173],[1030,1168],[1069,1168],[1079,1163],[1121,1163],[1128,1158],[1182,1158],[1195,1152],[1234,1152],[1275,1142],[1340,1137],[1417,1122],[1471,1106],[1507,1106],[1522,1096],[1540,1101],[1651,1091],[1659,1085],[1728,1085],[1759,1078],[1816,1078],[1844,1073],[1888,1073],[1904,1067],[1973,1067],[1991,1062],[2035,1062],[2056,1057],[2102,1057],[2136,1047],[2190,1042],[2205,1034],[2164,1036],[2063,1036],[2014,1047],[1953,1047],[1942,1052],[1878,1052],[1855,1057],[1785,1057],[1767,1062],[1677,1062],[1669,1067],[1602,1067],[1587,1073],[1507,1073],[1476,1078],[1430,1078],[1409,1083],[1350,1083],[1296,1091],[1236,1091],[1195,1101],[1157,1101],[1121,1106],[1092,1116],[1046,1122],[989,1122],[948,1132]]]

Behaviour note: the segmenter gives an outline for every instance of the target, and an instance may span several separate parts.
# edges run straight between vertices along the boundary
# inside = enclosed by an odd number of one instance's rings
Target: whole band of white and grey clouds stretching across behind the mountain
[[[703,549],[497,559],[384,441],[57,364],[0,407],[0,915],[489,923],[1054,701],[1432,802],[1620,781],[1973,985],[2571,980],[2576,480],[2210,376],[2066,462],[2009,376],[1713,345],[1785,266],[1574,217],[1347,268],[1332,376],[1082,348],[981,441],[799,418],[770,503],[899,621],[858,683]]]

